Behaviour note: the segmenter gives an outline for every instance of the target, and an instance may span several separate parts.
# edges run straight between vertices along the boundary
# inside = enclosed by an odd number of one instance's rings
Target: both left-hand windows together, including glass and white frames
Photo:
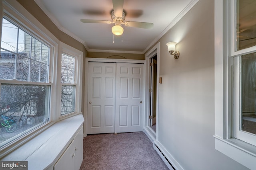
[[[0,6],[2,158],[81,113],[83,52],[60,42],[18,2],[0,0]]]

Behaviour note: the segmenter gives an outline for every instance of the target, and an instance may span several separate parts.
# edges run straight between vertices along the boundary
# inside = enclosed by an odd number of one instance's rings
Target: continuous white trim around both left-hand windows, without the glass
[[[50,47],[50,61],[49,61],[49,80],[48,84],[51,84],[50,94],[50,121],[44,125],[33,129],[26,135],[22,135],[10,143],[0,148],[0,158],[11,152],[12,150],[20,147],[22,144],[28,142],[35,136],[41,135],[44,130],[48,129],[57,121],[78,115],[81,113],[81,100],[82,100],[82,65],[83,65],[83,52],[73,47],[70,47],[64,43],[61,43],[48,29],[42,25],[36,18],[34,18],[25,8],[23,8],[16,0],[0,0],[0,39],[2,32],[2,17],[8,16],[11,20],[19,25],[23,30],[28,31],[34,37],[40,39],[43,43]],[[1,41],[0,41],[1,43]],[[77,56],[77,87],[76,87],[76,106],[75,112],[72,114],[60,116],[60,101],[61,101],[61,53],[71,53]],[[1,82],[4,82],[1,80]],[[1,83],[0,82],[0,83]],[[23,82],[19,82],[23,83]],[[25,82],[26,83],[26,82]],[[35,83],[36,84],[36,83]],[[59,106],[59,107],[58,107]],[[36,146],[40,147],[40,146]],[[35,148],[35,147],[34,147]]]

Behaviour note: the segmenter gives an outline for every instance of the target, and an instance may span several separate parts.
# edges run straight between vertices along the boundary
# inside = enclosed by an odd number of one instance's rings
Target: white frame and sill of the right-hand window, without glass
[[[250,141],[246,142],[234,128],[239,128],[241,97],[237,75],[240,61],[236,56],[256,51],[256,47],[235,51],[235,6],[233,0],[215,0],[215,149],[256,170],[256,146],[247,143]],[[234,86],[233,81],[236,82]]]

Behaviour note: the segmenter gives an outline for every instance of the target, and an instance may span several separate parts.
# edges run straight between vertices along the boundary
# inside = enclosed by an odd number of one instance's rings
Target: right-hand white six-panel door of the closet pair
[[[143,64],[116,64],[116,133],[142,131],[143,86]]]

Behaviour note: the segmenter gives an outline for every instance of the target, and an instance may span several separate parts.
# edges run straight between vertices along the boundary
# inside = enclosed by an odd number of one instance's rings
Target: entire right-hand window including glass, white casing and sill
[[[215,148],[255,169],[256,0],[215,1]]]

